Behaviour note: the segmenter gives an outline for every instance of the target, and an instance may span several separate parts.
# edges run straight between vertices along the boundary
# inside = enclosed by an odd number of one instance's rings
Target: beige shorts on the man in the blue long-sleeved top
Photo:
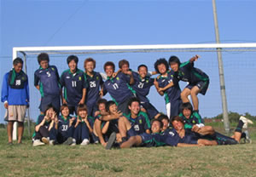
[[[24,123],[26,116],[26,106],[8,106],[7,122],[20,122]]]

